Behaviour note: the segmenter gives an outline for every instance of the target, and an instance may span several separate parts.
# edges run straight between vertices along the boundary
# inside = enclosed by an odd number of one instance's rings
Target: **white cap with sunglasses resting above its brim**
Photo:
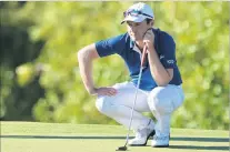
[[[126,21],[142,22],[144,19],[154,19],[151,7],[143,2],[134,3],[123,13],[126,16],[121,23]]]

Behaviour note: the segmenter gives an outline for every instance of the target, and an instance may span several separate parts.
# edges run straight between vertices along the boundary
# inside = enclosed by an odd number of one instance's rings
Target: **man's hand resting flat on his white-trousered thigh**
[[[111,87],[103,87],[103,88],[94,88],[91,91],[89,91],[91,95],[107,95],[107,97],[113,97],[118,93],[117,89]]]

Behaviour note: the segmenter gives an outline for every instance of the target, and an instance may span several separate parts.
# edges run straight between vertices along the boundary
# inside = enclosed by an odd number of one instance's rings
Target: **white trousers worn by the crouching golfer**
[[[98,97],[96,107],[101,113],[128,128],[136,87],[131,82],[123,82],[114,84],[113,88],[118,90],[118,93],[113,97]],[[143,115],[142,112],[151,112],[157,119],[157,134],[168,135],[171,114],[182,104],[183,100],[183,90],[180,85],[168,84],[157,87],[152,91],[139,89],[131,129],[138,130],[147,126],[150,118]]]

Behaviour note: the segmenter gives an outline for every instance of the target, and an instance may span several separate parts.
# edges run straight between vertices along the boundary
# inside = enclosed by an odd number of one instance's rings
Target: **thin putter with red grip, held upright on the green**
[[[142,53],[142,57],[141,57],[140,72],[139,72],[139,77],[138,77],[138,85],[136,88],[134,101],[133,101],[133,104],[132,104],[131,116],[130,116],[130,121],[129,121],[129,130],[128,130],[128,133],[127,133],[126,143],[124,143],[123,146],[119,146],[116,151],[126,151],[127,150],[127,143],[129,141],[129,133],[130,133],[130,128],[131,128],[131,124],[132,124],[133,110],[134,110],[136,100],[137,100],[137,97],[138,97],[138,89],[140,87],[140,80],[141,80],[141,75],[142,75],[142,70],[143,70],[143,63],[144,63],[146,54],[147,54],[147,45],[144,44],[143,53]]]

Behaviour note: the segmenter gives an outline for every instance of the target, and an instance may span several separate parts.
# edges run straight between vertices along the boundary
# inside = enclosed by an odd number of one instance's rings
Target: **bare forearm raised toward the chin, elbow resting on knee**
[[[154,48],[149,49],[150,50],[148,51],[148,59],[151,74],[158,85],[167,85],[171,80],[170,73],[161,64]]]

